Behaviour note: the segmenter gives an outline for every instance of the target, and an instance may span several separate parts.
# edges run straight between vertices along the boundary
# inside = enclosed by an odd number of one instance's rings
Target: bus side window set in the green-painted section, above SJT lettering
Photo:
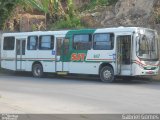
[[[73,48],[75,50],[90,50],[91,45],[91,35],[74,35]]]

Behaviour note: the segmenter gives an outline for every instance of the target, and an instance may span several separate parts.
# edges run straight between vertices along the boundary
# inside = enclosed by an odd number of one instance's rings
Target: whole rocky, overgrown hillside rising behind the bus
[[[0,0],[0,14],[0,29],[7,31],[27,31],[23,30],[27,26],[29,31],[113,26],[160,29],[159,0]]]

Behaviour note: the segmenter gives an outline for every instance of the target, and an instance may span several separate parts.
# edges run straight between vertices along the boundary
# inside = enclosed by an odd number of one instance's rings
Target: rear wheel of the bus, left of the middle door
[[[32,74],[34,77],[40,78],[43,77],[43,67],[41,64],[34,64],[32,67]]]

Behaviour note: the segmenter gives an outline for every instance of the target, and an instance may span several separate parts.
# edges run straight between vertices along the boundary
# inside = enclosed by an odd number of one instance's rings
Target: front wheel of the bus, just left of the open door
[[[112,83],[114,81],[114,71],[110,66],[105,66],[100,70],[100,79],[105,83]]]

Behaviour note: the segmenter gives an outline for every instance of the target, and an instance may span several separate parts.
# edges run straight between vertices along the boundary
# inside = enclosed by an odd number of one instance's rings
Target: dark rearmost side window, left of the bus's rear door
[[[15,37],[4,37],[3,50],[14,50]]]

